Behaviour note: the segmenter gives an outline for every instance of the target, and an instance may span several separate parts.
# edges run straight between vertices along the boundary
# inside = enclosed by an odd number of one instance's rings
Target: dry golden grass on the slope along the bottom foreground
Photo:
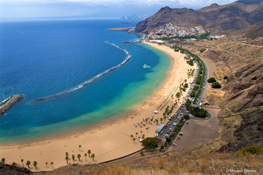
[[[236,166],[233,166],[236,165]],[[226,169],[250,169],[256,175],[263,173],[263,157],[251,155],[238,157],[230,153],[196,154],[186,156],[167,156],[141,158],[119,165],[78,165],[65,166],[50,172],[38,172],[34,175],[159,175],[159,174],[227,174]],[[236,174],[236,173],[231,173]],[[239,173],[243,174],[243,173]]]

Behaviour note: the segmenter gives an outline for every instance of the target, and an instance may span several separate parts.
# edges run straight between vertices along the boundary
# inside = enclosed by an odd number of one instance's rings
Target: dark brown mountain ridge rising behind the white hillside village
[[[169,22],[181,27],[202,26],[205,30],[213,32],[242,29],[263,21],[262,11],[262,1],[253,4],[233,2],[222,6],[211,4],[196,11],[163,7],[153,16],[139,22],[135,32],[155,32],[159,26]]]

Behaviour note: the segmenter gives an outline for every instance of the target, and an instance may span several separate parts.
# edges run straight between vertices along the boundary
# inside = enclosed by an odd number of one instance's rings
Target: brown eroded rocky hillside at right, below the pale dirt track
[[[222,138],[231,142],[263,137],[263,47],[230,41],[215,46],[204,55],[218,68],[215,77],[225,92],[218,103]]]

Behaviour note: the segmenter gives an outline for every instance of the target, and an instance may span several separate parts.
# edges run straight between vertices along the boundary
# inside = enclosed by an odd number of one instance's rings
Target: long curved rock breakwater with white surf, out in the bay
[[[92,78],[92,79],[90,79],[90,80],[88,80],[88,81],[86,81],[86,82],[84,82],[84,83],[82,83],[82,84],[80,84],[80,85],[78,85],[78,86],[76,86],[76,87],[74,87],[74,88],[71,88],[71,89],[69,89],[69,90],[66,90],[66,91],[57,93],[57,94],[52,95],[52,96],[48,96],[48,97],[44,97],[44,98],[38,98],[38,99],[36,99],[36,100],[29,101],[28,103],[43,101],[43,100],[45,100],[45,99],[58,97],[58,96],[61,96],[61,95],[70,93],[70,92],[72,92],[72,91],[78,90],[78,89],[84,87],[85,85],[87,85],[87,84],[95,81],[96,79],[104,76],[105,74],[107,74],[107,73],[109,73],[109,72],[111,72],[111,71],[113,71],[113,70],[115,70],[115,69],[123,66],[127,61],[129,61],[129,59],[130,59],[130,57],[131,57],[131,54],[130,54],[129,51],[127,51],[126,49],[124,49],[124,48],[122,48],[122,47],[119,47],[119,46],[117,46],[117,45],[115,45],[115,44],[113,44],[113,43],[111,43],[111,42],[108,42],[108,41],[105,41],[105,42],[106,42],[106,43],[109,43],[109,44],[112,44],[113,46],[118,47],[118,48],[122,49],[124,52],[126,52],[126,53],[127,53],[126,59],[125,59],[122,63],[118,64],[117,66],[112,67],[112,68],[108,69],[107,71],[105,71],[105,72],[103,72],[103,73],[100,73],[99,75],[95,76],[94,78]]]

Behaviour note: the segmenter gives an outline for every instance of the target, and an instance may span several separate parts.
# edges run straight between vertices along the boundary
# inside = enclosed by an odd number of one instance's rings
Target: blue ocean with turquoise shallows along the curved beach
[[[125,117],[147,101],[168,76],[171,59],[107,28],[124,19],[57,18],[0,22],[0,101],[24,98],[0,117],[0,144],[41,141],[85,131]],[[76,88],[130,59],[115,70]],[[151,68],[143,68],[144,64]],[[74,89],[69,93],[63,93]],[[56,94],[59,96],[51,97]],[[45,98],[42,101],[36,99]],[[98,121],[98,123],[97,123]]]

